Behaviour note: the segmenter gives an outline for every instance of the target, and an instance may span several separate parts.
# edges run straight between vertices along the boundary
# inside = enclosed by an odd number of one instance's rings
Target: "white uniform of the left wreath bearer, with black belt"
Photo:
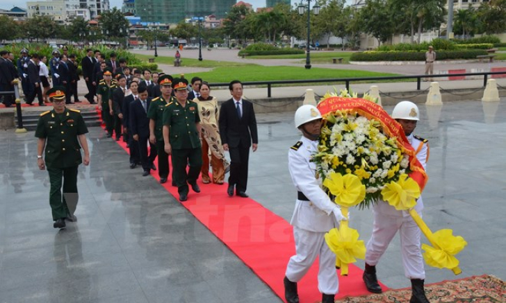
[[[320,255],[318,290],[334,295],[338,292],[336,255],[329,250],[325,233],[338,226],[332,214],[337,206],[321,188],[321,179],[316,179],[316,164],[309,162],[317,147],[318,141],[302,137],[288,152],[293,184],[309,201],[297,199],[295,202],[290,224],[293,225],[296,254],[288,261],[286,277],[291,282],[299,282]]]

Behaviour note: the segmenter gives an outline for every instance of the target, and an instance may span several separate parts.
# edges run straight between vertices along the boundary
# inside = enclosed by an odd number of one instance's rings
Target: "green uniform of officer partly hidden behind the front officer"
[[[174,102],[174,97],[170,98],[170,102]],[[158,175],[161,179],[167,178],[169,175],[169,155],[165,153],[165,143],[163,141],[163,112],[165,111],[165,101],[163,96],[154,98],[147,110],[147,117],[154,120],[154,136],[156,137],[156,153],[158,155]]]

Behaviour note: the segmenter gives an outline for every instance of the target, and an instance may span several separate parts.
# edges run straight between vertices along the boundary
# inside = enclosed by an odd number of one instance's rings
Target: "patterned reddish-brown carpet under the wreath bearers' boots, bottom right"
[[[425,293],[431,303],[505,303],[506,282],[490,275],[482,275],[426,285]],[[381,294],[345,297],[336,302],[405,303],[409,302],[410,297],[411,288],[403,288]]]

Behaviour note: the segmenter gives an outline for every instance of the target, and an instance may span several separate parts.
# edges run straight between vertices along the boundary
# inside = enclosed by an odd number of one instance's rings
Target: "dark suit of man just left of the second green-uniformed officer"
[[[147,98],[146,110],[142,107],[142,103],[139,100],[130,103],[129,111],[129,126],[131,128],[132,136],[138,135],[139,155],[142,169],[149,171],[153,165],[154,159],[156,158],[156,146],[149,142],[149,119],[147,118],[147,110],[149,110],[149,104],[151,98]],[[147,144],[149,142],[149,156],[147,155]]]

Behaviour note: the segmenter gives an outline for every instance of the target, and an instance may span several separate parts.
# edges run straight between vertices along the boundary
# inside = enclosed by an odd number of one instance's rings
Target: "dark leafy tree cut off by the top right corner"
[[[482,21],[485,33],[498,34],[506,31],[506,0],[484,2],[478,9],[478,17]]]

